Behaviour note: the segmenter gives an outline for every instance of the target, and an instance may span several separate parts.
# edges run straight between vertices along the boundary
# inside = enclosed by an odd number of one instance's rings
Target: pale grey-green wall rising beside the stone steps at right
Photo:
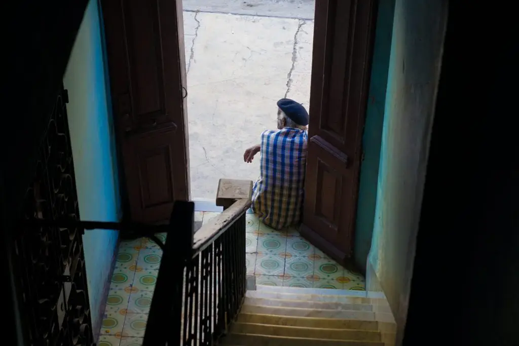
[[[407,315],[447,3],[395,3],[368,265],[373,266],[400,331]]]

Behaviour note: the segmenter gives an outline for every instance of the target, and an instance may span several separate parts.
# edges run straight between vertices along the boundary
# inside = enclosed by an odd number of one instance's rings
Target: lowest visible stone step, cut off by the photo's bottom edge
[[[261,334],[230,333],[223,340],[222,345],[243,346],[384,346],[380,341],[359,340],[321,340],[311,338],[292,338]]]

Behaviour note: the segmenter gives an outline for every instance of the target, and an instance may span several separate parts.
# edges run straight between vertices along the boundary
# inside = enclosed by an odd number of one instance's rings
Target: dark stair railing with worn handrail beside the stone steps
[[[236,201],[193,234],[194,203],[176,202],[143,346],[212,345],[245,295],[245,212]]]

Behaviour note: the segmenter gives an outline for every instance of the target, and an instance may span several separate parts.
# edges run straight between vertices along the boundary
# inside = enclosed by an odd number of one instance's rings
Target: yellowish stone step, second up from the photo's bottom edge
[[[331,329],[290,327],[258,323],[235,322],[231,333],[261,334],[270,336],[285,336],[295,338],[332,339],[332,340],[361,340],[380,341],[380,333],[375,330]]]

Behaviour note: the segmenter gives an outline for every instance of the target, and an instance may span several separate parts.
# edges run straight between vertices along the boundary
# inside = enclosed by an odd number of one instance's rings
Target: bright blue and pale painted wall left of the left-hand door
[[[79,214],[83,220],[117,221],[119,196],[113,132],[109,122],[107,81],[103,63],[99,9],[90,0],[67,65],[63,84],[76,173]],[[86,231],[83,236],[88,295],[94,334],[100,328],[105,285],[108,284],[118,233]]]

